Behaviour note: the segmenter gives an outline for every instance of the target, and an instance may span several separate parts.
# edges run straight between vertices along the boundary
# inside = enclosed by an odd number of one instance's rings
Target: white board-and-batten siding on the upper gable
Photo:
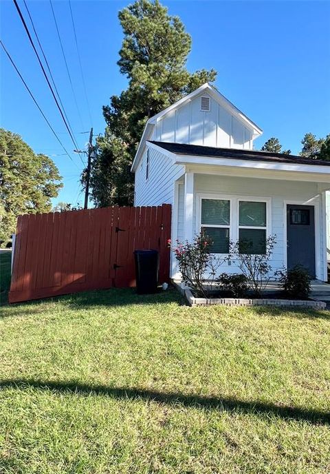
[[[210,111],[201,110],[201,96],[210,98]],[[252,130],[208,94],[200,94],[157,121],[153,140],[209,147],[252,150]]]

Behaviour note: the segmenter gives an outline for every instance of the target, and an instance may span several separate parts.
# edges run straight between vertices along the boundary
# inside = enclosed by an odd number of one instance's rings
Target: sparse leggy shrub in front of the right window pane
[[[269,263],[276,244],[276,236],[269,236],[261,242],[264,247],[263,254],[252,253],[252,243],[245,240],[230,242],[227,260],[236,260],[243,275],[248,280],[248,285],[253,293],[260,297],[272,278],[272,267]]]

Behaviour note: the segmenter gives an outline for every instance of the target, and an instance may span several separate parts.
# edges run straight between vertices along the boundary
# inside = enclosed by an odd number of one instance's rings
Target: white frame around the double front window
[[[239,229],[265,229],[266,239],[272,235],[272,198],[265,196],[241,196],[237,194],[217,194],[217,193],[197,193],[196,194],[196,233],[199,234],[201,227],[229,227],[229,239],[236,242],[239,240]],[[230,201],[230,225],[201,224],[201,200],[229,200]],[[239,203],[241,201],[249,201],[252,203],[266,204],[266,226],[253,227],[239,225]],[[228,254],[214,254],[216,256],[225,257]],[[270,258],[272,260],[272,257]]]

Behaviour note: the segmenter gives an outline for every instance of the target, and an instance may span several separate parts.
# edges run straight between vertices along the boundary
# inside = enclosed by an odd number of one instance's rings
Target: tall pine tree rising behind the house
[[[107,127],[91,169],[91,198],[101,207],[133,203],[130,167],[148,118],[217,75],[188,72],[191,37],[158,0],[137,0],[118,16],[124,32],[118,65],[129,85],[103,107]]]

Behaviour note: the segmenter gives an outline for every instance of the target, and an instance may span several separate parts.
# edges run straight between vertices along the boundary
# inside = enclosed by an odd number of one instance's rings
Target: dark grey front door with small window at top
[[[287,268],[295,265],[315,278],[314,206],[287,205]]]

